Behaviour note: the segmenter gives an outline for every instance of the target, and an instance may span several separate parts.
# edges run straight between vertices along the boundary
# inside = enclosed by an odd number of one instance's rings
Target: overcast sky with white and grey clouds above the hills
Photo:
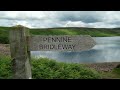
[[[0,11],[0,26],[120,27],[120,11]]]

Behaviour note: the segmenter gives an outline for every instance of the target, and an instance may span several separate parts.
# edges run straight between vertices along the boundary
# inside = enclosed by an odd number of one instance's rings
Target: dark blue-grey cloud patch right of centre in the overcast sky
[[[58,12],[56,14],[56,18],[60,21],[82,21],[85,23],[99,22],[100,17],[102,16],[101,14],[93,11]]]

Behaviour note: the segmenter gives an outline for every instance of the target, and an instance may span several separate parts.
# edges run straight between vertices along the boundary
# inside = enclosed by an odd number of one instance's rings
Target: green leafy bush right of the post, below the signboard
[[[40,58],[32,61],[34,79],[97,79],[100,75],[84,65]]]

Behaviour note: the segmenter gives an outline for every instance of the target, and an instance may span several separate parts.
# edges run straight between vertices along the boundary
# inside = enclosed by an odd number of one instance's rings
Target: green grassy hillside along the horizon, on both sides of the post
[[[12,27],[0,27],[0,43],[8,44],[9,30]],[[46,28],[30,29],[31,35],[91,35],[92,37],[120,36],[120,28]]]

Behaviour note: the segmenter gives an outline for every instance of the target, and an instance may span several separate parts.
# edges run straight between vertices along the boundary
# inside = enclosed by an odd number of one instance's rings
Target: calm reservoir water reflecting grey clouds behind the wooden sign
[[[96,45],[87,51],[31,51],[31,55],[37,58],[45,57],[69,63],[120,62],[120,37],[92,38],[95,40]]]

